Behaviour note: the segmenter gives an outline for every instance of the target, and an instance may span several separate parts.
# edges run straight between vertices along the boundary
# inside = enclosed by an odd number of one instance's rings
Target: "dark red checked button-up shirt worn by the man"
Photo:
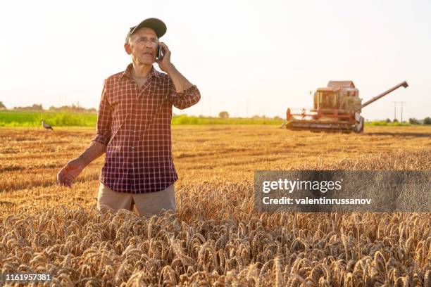
[[[163,191],[177,179],[171,151],[172,106],[184,109],[197,103],[196,86],[181,93],[168,75],[151,69],[142,89],[130,76],[132,64],[104,81],[96,136],[106,146],[99,181],[113,191]]]

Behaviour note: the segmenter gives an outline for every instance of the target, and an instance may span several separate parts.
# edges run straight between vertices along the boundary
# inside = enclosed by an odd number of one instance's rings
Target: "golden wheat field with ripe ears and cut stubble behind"
[[[1,128],[0,269],[54,286],[431,286],[430,213],[258,213],[254,170],[431,170],[431,129],[365,134],[175,126],[177,214],[95,208],[104,156],[56,173],[94,129]],[[48,285],[48,284],[46,284]]]

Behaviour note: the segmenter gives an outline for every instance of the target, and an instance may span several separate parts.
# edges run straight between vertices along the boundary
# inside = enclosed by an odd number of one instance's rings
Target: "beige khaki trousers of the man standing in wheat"
[[[168,186],[163,191],[150,193],[122,193],[110,189],[100,182],[99,194],[97,196],[97,208],[100,210],[101,205],[107,205],[109,208],[118,211],[126,209],[142,215],[160,215],[162,209],[176,212],[175,190],[174,185]]]

